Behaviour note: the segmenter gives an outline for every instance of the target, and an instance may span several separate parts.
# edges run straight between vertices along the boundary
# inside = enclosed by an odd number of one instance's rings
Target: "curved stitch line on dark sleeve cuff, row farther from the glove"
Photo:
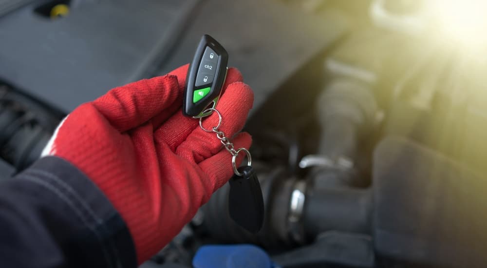
[[[78,217],[81,219],[81,221],[83,222],[83,224],[89,229],[91,230],[94,235],[96,236],[96,238],[98,239],[98,242],[100,243],[100,245],[102,245],[102,248],[103,248],[103,255],[105,256],[105,262],[107,263],[107,265],[109,267],[113,267],[112,266],[112,262],[110,261],[110,258],[108,256],[108,252],[107,252],[107,249],[101,239],[101,236],[100,234],[98,233],[98,231],[96,230],[96,228],[94,228],[94,226],[90,225],[88,220],[86,219],[86,217],[83,216],[83,213],[81,211],[79,211],[76,206],[73,204],[73,202],[61,191],[59,191],[58,189],[56,189],[55,186],[53,186],[52,184],[49,184],[47,181],[44,181],[44,180],[41,180],[35,176],[32,176],[32,175],[29,175],[29,174],[22,174],[19,178],[21,179],[25,179],[25,180],[29,180],[33,183],[37,183],[41,186],[43,186],[44,188],[52,191],[53,193],[56,194],[57,197],[59,197],[62,201],[64,201],[64,203],[66,205],[68,205],[68,207],[70,207],[77,215]]]

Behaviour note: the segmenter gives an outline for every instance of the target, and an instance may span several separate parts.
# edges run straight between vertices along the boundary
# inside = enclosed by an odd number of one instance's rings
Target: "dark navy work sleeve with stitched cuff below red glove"
[[[0,267],[134,268],[124,221],[67,161],[39,159],[0,182]]]

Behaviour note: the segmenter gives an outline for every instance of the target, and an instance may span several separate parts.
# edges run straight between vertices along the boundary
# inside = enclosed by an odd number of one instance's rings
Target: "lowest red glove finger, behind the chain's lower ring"
[[[235,145],[235,149],[245,148],[248,150],[252,144],[252,137],[246,132],[240,133],[233,140],[233,144]],[[244,156],[245,153],[242,152],[237,156],[237,167],[242,164]],[[212,185],[214,185],[213,191],[222,187],[233,175],[232,155],[225,149],[203,160],[199,166],[208,175]]]

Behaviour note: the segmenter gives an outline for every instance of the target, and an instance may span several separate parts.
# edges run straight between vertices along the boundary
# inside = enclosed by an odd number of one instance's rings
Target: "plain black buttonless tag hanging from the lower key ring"
[[[245,230],[256,233],[264,221],[261,184],[251,166],[238,168],[242,176],[233,175],[228,193],[230,217]]]

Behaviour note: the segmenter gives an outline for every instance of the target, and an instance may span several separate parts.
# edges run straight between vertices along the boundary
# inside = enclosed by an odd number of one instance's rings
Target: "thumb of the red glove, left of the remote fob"
[[[182,102],[178,98],[182,97],[180,83],[184,85],[185,68],[187,70],[187,66],[183,66],[166,76],[114,88],[94,100],[93,105],[118,131],[130,130],[171,108],[174,103]],[[159,119],[169,117],[170,109],[168,111],[163,112]]]

